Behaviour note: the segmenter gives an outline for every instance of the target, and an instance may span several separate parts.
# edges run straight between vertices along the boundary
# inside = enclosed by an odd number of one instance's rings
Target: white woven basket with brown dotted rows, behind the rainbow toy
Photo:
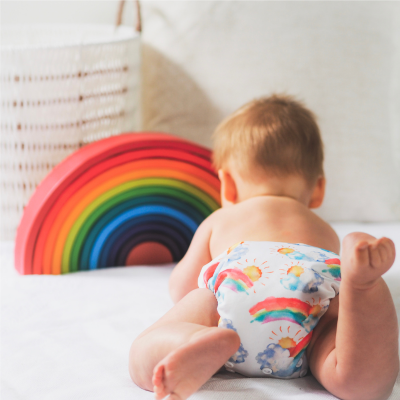
[[[85,143],[140,128],[140,36],[129,27],[2,27],[1,239],[35,187]]]

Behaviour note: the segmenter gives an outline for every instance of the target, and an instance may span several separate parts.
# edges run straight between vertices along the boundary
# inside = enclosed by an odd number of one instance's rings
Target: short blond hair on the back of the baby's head
[[[302,175],[313,185],[323,172],[323,144],[314,114],[291,96],[253,100],[220,123],[213,162],[239,171],[261,167],[274,175]]]

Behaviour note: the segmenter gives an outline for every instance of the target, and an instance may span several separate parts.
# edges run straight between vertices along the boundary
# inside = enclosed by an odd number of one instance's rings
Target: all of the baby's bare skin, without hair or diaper
[[[203,265],[247,240],[305,243],[339,253],[336,233],[309,210],[322,202],[322,178],[312,189],[293,176],[253,187],[233,170],[220,171],[220,179],[223,208],[202,223],[171,275],[176,305],[132,344],[132,380],[154,391],[157,400],[186,399],[239,348],[234,331],[216,328],[213,293],[198,289]],[[381,275],[394,258],[387,238],[353,233],[343,242],[340,303],[339,296],[331,301],[307,349],[316,379],[342,399],[386,399],[393,389],[397,319]]]

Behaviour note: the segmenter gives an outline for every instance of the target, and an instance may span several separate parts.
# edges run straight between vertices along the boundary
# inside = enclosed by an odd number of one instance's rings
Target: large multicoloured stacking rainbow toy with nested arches
[[[131,133],[89,144],[57,165],[27,204],[16,269],[57,275],[178,261],[220,207],[219,189],[211,152],[187,140]]]

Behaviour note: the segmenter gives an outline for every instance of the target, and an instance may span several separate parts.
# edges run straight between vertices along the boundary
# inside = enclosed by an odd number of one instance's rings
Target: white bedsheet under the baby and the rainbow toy
[[[333,224],[340,237],[365,231],[392,238],[400,223]],[[127,370],[133,339],[171,306],[172,265],[64,276],[19,276],[13,243],[1,243],[1,398],[152,399]],[[385,275],[400,317],[400,256]],[[334,399],[312,376],[291,381],[218,373],[191,399]],[[390,397],[400,398],[400,376]]]

